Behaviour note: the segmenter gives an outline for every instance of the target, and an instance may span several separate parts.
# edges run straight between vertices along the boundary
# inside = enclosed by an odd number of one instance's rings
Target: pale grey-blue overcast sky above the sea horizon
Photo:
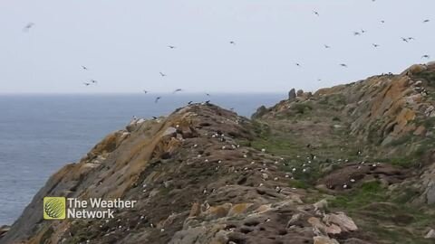
[[[435,57],[433,9],[433,0],[1,0],[0,94],[314,91],[430,61],[421,56]]]

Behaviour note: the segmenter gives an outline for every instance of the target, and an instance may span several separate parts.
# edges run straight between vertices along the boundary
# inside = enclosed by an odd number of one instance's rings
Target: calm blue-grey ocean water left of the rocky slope
[[[168,115],[207,99],[250,117],[285,94],[0,95],[0,226],[19,217],[50,175],[131,117]]]

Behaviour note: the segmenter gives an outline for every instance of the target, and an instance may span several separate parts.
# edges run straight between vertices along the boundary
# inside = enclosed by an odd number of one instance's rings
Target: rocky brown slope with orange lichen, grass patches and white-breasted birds
[[[435,65],[132,121],[54,174],[0,243],[433,243]],[[136,200],[43,221],[43,197]]]

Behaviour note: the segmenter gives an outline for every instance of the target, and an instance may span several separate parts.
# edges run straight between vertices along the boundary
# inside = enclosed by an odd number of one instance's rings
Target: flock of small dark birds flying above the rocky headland
[[[376,0],[372,0],[372,2],[375,2]],[[316,15],[317,17],[320,17],[320,13],[319,12],[317,12],[317,11],[313,11],[313,14],[314,15]],[[381,20],[381,23],[385,23],[385,21],[384,20]],[[424,19],[423,21],[422,21],[422,23],[430,23],[430,19]],[[24,32],[29,32],[30,31],[30,29],[32,29],[34,27],[34,23],[27,23],[25,26],[24,26],[24,29],[23,29],[23,31]],[[364,30],[364,29],[362,29],[361,31],[356,31],[356,32],[353,32],[353,35],[355,35],[355,36],[361,36],[362,34],[364,34],[364,33],[367,33],[367,31],[366,30]],[[401,41],[402,42],[412,42],[412,41],[415,41],[415,38],[414,37],[401,37]],[[236,42],[235,41],[229,41],[228,42],[229,44],[231,44],[231,45],[236,45]],[[378,43],[372,43],[372,46],[373,46],[373,48],[379,48],[379,47],[381,47],[381,45],[380,44],[378,44]],[[171,50],[174,50],[174,49],[176,49],[177,48],[177,46],[174,46],[174,45],[168,45],[167,46],[169,49],[171,49]],[[332,48],[332,46],[331,45],[328,45],[328,44],[324,44],[324,48],[325,49],[331,49]],[[430,59],[430,55],[429,54],[424,54],[424,55],[422,55],[421,56],[421,59]],[[300,63],[300,62],[295,62],[295,65],[297,66],[297,67],[302,67],[302,64]],[[339,64],[341,67],[343,67],[343,68],[348,68],[349,66],[346,64],[346,63],[340,63]],[[83,66],[82,65],[82,70],[89,70],[86,66]],[[161,78],[165,78],[165,77],[167,77],[168,75],[166,74],[166,73],[164,73],[164,72],[162,72],[162,71],[160,71],[159,72],[160,73],[160,77]],[[318,81],[321,81],[321,79],[318,79]],[[85,86],[85,87],[89,87],[89,86],[91,86],[91,85],[96,85],[96,84],[98,84],[98,81],[97,80],[89,80],[89,81],[87,81],[87,82],[83,82],[83,85]],[[181,91],[183,91],[183,89],[175,89],[173,92],[172,92],[172,94],[175,94],[175,93],[178,93],[178,92],[181,92]],[[149,90],[146,90],[146,89],[143,89],[143,93],[144,94],[148,94],[150,91]],[[206,95],[209,97],[210,96],[210,94],[209,93],[206,93]],[[162,99],[162,97],[161,96],[159,96],[159,97],[157,97],[156,99],[154,99],[154,102],[155,103],[158,103],[159,101],[160,101],[160,99]],[[209,102],[209,100],[207,101],[207,102]],[[189,104],[191,103],[191,101],[189,102]]]

